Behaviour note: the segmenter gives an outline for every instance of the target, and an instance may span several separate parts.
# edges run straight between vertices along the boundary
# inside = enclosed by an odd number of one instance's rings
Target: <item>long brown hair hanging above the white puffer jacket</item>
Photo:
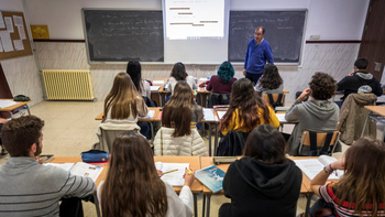
[[[162,113],[162,126],[175,128],[174,138],[191,134],[193,105],[195,101],[190,86],[186,82],[178,82]]]

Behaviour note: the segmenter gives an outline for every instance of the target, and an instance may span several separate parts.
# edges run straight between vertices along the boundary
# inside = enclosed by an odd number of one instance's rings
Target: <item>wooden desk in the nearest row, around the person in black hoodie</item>
[[[218,158],[218,156],[216,156]],[[317,159],[318,156],[292,156],[289,159],[292,160],[298,160],[298,159]],[[241,159],[241,156],[239,156],[238,159]],[[207,166],[210,166],[210,165],[215,165],[213,163],[213,158],[212,156],[200,156],[200,166],[204,169],[204,167],[207,167]],[[222,171],[224,172],[228,172],[228,169],[229,169],[230,164],[219,164],[218,167],[221,169]],[[224,194],[223,191],[217,193],[217,194]],[[309,206],[310,206],[310,200],[311,200],[311,195],[312,195],[312,192],[310,189],[310,180],[305,175],[305,173],[302,173],[302,184],[300,186],[300,194],[302,195],[306,195],[307,196],[307,206],[306,206],[306,211],[309,209]],[[207,208],[206,208],[206,216],[209,217],[210,216],[210,200],[211,200],[211,195],[212,195],[212,192],[207,188],[205,185],[204,185],[204,202],[202,202],[202,216],[205,217],[205,200],[206,200],[206,197],[207,197]]]

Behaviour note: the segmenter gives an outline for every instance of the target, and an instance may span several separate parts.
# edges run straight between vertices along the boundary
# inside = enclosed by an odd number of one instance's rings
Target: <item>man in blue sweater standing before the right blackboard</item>
[[[272,48],[266,40],[263,39],[265,28],[260,26],[255,30],[254,39],[250,40],[244,57],[243,75],[254,85],[263,74],[266,61],[274,64]]]

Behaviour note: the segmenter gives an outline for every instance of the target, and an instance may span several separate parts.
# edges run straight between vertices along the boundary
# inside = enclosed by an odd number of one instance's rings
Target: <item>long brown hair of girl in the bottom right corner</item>
[[[344,175],[333,185],[339,206],[349,200],[349,208],[362,215],[384,210],[385,203],[385,143],[370,138],[359,139],[345,152]],[[352,205],[355,204],[355,206]],[[373,204],[373,207],[365,205]]]

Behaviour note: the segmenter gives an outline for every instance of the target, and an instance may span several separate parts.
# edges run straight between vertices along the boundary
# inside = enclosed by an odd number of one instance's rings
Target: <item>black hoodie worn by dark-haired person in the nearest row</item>
[[[265,164],[242,158],[233,162],[223,180],[224,195],[220,217],[286,217],[296,215],[302,172],[292,160]]]

